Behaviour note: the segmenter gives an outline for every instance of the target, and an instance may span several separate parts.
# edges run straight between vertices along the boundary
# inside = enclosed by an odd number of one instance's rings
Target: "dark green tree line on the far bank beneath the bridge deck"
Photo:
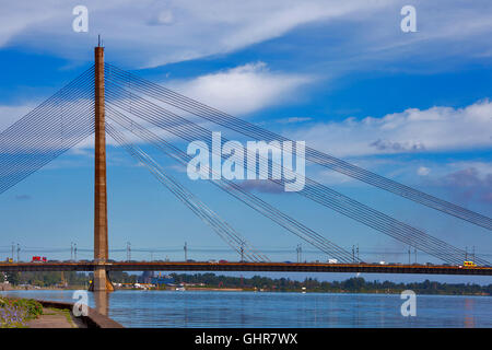
[[[370,281],[362,277],[349,278],[344,281],[318,281],[315,278],[306,278],[303,281],[289,278],[273,279],[269,277],[254,276],[251,278],[218,276],[215,273],[171,273],[175,283],[202,284],[208,288],[238,288],[245,290],[265,290],[279,292],[324,292],[324,293],[399,293],[412,290],[418,294],[452,294],[452,295],[492,295],[492,284],[480,285],[476,283],[441,283],[425,280],[423,282],[396,283],[391,281]],[[63,272],[63,281],[68,287],[89,285],[92,272]],[[112,271],[109,278],[117,283],[136,283],[140,280],[137,275],[122,271]],[[0,282],[3,281],[0,273]],[[7,279],[13,285],[31,284],[43,288],[62,284],[61,272],[30,271],[9,272]]]

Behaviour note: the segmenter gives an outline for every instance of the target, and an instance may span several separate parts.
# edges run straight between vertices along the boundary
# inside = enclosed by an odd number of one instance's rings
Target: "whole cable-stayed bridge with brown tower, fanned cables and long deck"
[[[199,122],[207,121],[207,124]],[[360,222],[374,232],[383,233],[405,245],[424,252],[441,261],[441,266],[373,265],[365,264],[349,250],[321,233],[311,229],[292,215],[259,198],[234,180],[216,174],[212,167],[201,170],[211,176],[208,180],[222,191],[247,205],[309,246],[336,259],[337,264],[272,262],[219,213],[183,186],[166,170],[132,141],[133,138],[151,144],[175,162],[187,165],[191,158],[163,137],[186,142],[201,141],[216,156],[225,160],[213,147],[212,130],[203,125],[214,125],[239,132],[258,141],[291,141],[259,126],[233,117],[206,104],[186,97],[162,85],[142,79],[104,61],[104,48],[95,48],[95,63],[73,81],[43,102],[31,113],[0,133],[0,194],[95,135],[94,176],[94,259],[86,262],[0,264],[0,270],[91,270],[94,271],[94,290],[112,289],[107,280],[109,270],[256,270],[256,271],[340,271],[391,273],[459,273],[492,275],[491,264],[480,255],[473,257],[477,267],[464,267],[467,252],[440,240],[423,230],[413,228],[382,211],[342,195],[308,176],[303,176],[304,187],[297,195]],[[241,255],[241,262],[112,262],[108,256],[107,190],[106,190],[106,135],[109,135],[139,163],[166,187],[179,201],[208,224],[230,247]],[[131,139],[130,137],[131,136]],[[222,142],[227,142],[222,138]],[[249,152],[249,151],[247,151]],[[393,192],[419,205],[441,211],[469,224],[492,230],[492,219],[436,198],[418,189],[399,184],[370,171],[339,160],[330,154],[306,148],[292,155],[353,177],[378,189]],[[250,154],[247,154],[248,156]],[[257,154],[253,154],[256,159]],[[283,166],[265,160],[270,166],[256,167],[259,178],[284,187],[286,180],[273,176]]]

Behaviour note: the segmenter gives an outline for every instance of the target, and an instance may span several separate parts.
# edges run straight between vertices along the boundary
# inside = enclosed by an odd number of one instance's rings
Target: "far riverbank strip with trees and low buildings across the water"
[[[492,295],[492,283],[477,284],[471,282],[447,283],[431,280],[421,282],[393,282],[388,280],[371,280],[371,276],[351,277],[342,281],[324,281],[316,278],[293,280],[288,278],[270,278],[265,276],[237,277],[213,272],[176,273],[162,277],[161,273],[112,272],[109,278],[115,288],[128,290],[203,290],[203,291],[259,291],[259,292],[294,292],[294,293],[370,293],[398,294],[411,290],[420,295]],[[34,271],[19,272],[8,276],[10,283],[0,283],[0,291],[14,290],[86,290],[91,277],[86,273]],[[492,280],[491,280],[492,282]]]

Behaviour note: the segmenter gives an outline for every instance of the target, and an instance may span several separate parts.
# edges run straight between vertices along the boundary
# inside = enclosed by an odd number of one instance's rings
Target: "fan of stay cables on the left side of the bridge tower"
[[[92,133],[92,72],[93,67],[0,133],[0,194]]]

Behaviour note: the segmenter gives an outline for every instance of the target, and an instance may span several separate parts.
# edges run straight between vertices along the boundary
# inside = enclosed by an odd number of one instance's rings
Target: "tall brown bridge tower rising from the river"
[[[94,164],[94,280],[92,291],[113,291],[105,262],[108,259],[107,243],[107,190],[106,190],[106,130],[104,106],[104,47],[94,49],[95,58],[95,164]]]

